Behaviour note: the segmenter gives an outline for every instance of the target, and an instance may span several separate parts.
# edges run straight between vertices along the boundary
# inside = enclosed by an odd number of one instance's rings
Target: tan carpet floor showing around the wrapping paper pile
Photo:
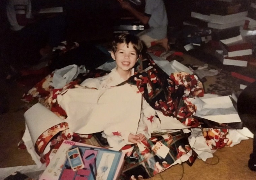
[[[203,65],[197,59],[184,55],[182,63]],[[216,82],[215,77],[207,77],[204,83],[205,89]],[[20,98],[29,87],[21,86],[15,82],[0,82],[0,89],[7,95],[10,110],[0,115],[0,168],[25,166],[34,164],[26,149],[18,149],[17,143],[22,137],[25,128],[24,111],[20,108],[24,105]],[[236,84],[239,86],[239,84]],[[247,164],[252,152],[252,139],[244,140],[234,147],[219,149],[212,159],[203,162],[199,159],[192,167],[186,163],[175,165],[166,171],[154,176],[151,180],[179,180],[183,173],[183,180],[255,180],[256,172],[249,170]],[[218,162],[219,159],[219,163]],[[217,164],[216,164],[217,163]],[[216,165],[211,165],[216,164]]]

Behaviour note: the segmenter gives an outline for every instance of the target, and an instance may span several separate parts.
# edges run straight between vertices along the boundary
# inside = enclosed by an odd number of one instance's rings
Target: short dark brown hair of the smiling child
[[[121,34],[115,37],[114,41],[112,42],[112,51],[114,53],[117,51],[117,45],[119,43],[125,43],[127,48],[129,43],[131,43],[137,53],[137,57],[139,57],[143,48],[141,40],[137,36],[131,34]]]

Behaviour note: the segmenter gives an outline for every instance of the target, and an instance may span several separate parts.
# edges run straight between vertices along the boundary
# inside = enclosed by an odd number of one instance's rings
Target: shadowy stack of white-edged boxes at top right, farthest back
[[[207,23],[212,28],[213,40],[238,36],[239,26],[244,25],[248,11],[238,2],[199,1],[191,17]]]

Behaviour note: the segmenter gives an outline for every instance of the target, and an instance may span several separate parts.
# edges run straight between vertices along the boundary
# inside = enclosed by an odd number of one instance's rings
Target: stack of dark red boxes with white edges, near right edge
[[[221,50],[216,51],[216,57],[224,65],[246,67],[252,57],[253,44],[243,39],[241,35],[220,41]]]

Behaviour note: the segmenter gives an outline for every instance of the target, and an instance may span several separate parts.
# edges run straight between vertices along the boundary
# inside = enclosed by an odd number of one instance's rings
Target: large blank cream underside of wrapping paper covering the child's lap
[[[65,122],[72,132],[136,134],[141,111],[141,94],[136,91],[129,84],[103,90],[74,88],[58,95],[57,101],[67,113]]]

